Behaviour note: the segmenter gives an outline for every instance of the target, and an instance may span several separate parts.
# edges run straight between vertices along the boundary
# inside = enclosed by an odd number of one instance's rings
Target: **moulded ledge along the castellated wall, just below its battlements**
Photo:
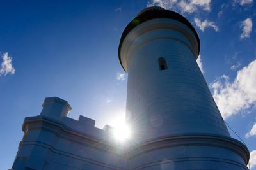
[[[90,146],[97,150],[104,150],[118,155],[122,155],[122,153],[125,152],[124,146],[116,145],[115,140],[111,138],[112,136],[109,136],[110,134],[108,131],[97,127],[86,129],[87,132],[77,131],[77,129],[69,127],[64,122],[49,117],[26,117],[22,124],[22,131],[24,131],[26,135],[28,131],[33,131],[34,129],[53,132],[54,134],[61,136],[61,138],[68,139],[68,141],[79,143],[84,146]],[[115,152],[116,150],[118,150],[118,152]]]

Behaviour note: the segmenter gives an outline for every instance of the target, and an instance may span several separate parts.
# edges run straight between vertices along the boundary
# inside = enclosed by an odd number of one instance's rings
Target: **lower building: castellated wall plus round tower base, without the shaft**
[[[49,97],[40,115],[25,118],[12,170],[246,170],[246,155],[237,155],[243,148],[235,139],[177,135],[120,145],[112,127],[99,129],[95,120],[81,115],[79,120],[68,118],[70,110],[67,101]]]

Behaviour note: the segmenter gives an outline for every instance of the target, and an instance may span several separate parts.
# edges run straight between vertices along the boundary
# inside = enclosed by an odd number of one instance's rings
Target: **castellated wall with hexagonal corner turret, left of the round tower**
[[[111,127],[95,127],[95,120],[67,117],[67,101],[46,98],[36,117],[27,117],[24,136],[12,169],[125,169],[127,159]]]

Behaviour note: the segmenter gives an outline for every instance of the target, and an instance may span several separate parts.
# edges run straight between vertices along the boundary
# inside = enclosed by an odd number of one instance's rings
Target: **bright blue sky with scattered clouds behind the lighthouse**
[[[118,61],[120,36],[143,8],[162,6],[184,15],[198,32],[198,64],[225,121],[248,146],[255,170],[255,3],[1,1],[1,169],[12,166],[22,122],[40,114],[45,97],[67,100],[72,106],[70,117],[93,118],[100,128],[124,119],[127,74]]]

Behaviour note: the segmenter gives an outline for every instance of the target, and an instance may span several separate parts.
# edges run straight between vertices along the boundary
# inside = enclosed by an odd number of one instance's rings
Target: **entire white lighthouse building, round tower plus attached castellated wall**
[[[70,118],[67,101],[47,97],[40,115],[24,120],[12,170],[248,170],[248,148],[230,136],[196,64],[199,52],[198,34],[182,15],[141,11],[118,48],[131,138],[118,143],[113,127]]]

